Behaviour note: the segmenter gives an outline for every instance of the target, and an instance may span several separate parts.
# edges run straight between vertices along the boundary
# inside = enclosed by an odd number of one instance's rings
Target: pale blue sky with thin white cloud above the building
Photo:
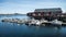
[[[0,14],[26,14],[46,8],[62,8],[66,12],[66,0],[0,0]]]

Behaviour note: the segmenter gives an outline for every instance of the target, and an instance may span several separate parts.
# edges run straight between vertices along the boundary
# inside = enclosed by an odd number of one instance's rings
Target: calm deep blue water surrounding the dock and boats
[[[2,23],[2,18],[29,18],[26,15],[0,15],[0,36],[10,37],[64,37],[66,27],[54,26],[28,26],[13,23]]]

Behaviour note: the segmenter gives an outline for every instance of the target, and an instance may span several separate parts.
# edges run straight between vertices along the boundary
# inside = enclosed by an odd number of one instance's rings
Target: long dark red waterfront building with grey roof
[[[52,8],[52,9],[35,9],[34,12],[29,12],[28,16],[33,17],[35,20],[55,20],[61,18],[63,15],[61,8]]]

